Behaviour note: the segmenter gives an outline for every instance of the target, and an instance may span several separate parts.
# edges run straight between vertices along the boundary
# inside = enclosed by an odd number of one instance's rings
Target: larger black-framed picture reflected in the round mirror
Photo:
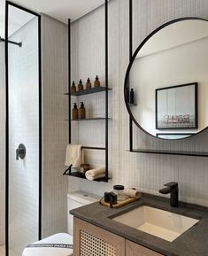
[[[198,128],[197,82],[156,89],[156,128]]]

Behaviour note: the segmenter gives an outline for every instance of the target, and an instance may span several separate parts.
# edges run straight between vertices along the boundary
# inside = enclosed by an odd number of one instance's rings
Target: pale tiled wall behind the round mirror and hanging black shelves
[[[208,18],[205,0],[134,0],[134,50],[152,30],[171,19],[186,16]],[[72,25],[72,79],[86,79],[99,74],[104,81],[104,6]],[[108,183],[89,182],[69,177],[68,190],[87,190],[102,195],[112,185],[122,183],[158,194],[165,182],[179,182],[180,199],[208,206],[207,158],[154,155],[128,152],[128,113],[124,103],[123,85],[128,65],[128,1],[109,3],[109,85],[112,87],[112,128],[110,129],[112,180]],[[90,133],[97,131],[96,122]],[[88,131],[81,130],[82,136]],[[208,133],[188,141],[159,142],[134,126],[134,146],[167,150],[208,150]],[[79,136],[78,136],[79,137]],[[81,141],[80,141],[81,142]],[[88,153],[95,157],[94,151]],[[96,158],[96,157],[95,157]]]

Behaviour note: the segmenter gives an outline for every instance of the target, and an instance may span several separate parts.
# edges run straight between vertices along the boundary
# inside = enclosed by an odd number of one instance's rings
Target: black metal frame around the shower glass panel
[[[5,256],[9,256],[9,66],[8,66],[8,21],[9,21],[9,5],[18,8],[24,12],[35,15],[38,18],[38,82],[39,82],[39,206],[38,206],[38,238],[42,238],[42,29],[41,29],[41,15],[32,12],[27,8],[13,4],[10,1],[5,3],[5,91],[6,91],[6,145],[5,145]]]

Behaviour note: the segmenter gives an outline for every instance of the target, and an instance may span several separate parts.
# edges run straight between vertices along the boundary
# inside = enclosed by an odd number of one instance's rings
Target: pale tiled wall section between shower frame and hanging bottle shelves
[[[67,26],[42,14],[42,237],[65,232]]]

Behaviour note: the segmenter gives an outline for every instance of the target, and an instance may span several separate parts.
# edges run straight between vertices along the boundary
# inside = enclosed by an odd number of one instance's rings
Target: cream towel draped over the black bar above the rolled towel
[[[65,154],[65,166],[79,168],[83,163],[84,156],[83,151],[81,150],[81,145],[68,144]]]

